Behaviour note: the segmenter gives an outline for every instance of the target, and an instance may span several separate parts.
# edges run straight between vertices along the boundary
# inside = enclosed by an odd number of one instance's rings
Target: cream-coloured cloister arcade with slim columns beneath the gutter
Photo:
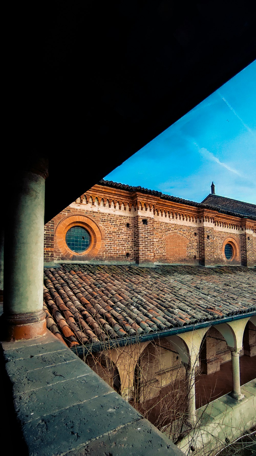
[[[154,424],[159,415],[164,423],[172,414],[194,425],[201,405],[227,393],[243,399],[241,357],[253,358],[247,377],[243,373],[247,383],[256,378],[256,316],[112,348],[85,360]]]

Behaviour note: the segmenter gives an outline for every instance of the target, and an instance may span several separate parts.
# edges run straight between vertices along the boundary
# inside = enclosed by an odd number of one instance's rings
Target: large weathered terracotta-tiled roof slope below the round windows
[[[256,269],[62,264],[44,270],[48,328],[69,347],[256,311]]]

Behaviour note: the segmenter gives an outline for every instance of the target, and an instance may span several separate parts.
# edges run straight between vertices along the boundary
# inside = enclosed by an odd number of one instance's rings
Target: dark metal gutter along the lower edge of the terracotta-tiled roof
[[[142,336],[138,334],[136,336],[131,337],[109,339],[108,341],[103,342],[92,342],[87,345],[79,345],[76,347],[72,347],[71,350],[72,352],[75,352],[78,356],[84,356],[87,354],[101,352],[104,349],[125,347],[126,345],[133,345],[135,343],[148,342],[155,339],[162,339],[163,337],[176,336],[183,332],[196,331],[197,329],[206,328],[207,326],[216,326],[222,323],[229,323],[230,321],[241,320],[242,318],[250,318],[254,315],[256,315],[256,311],[247,312],[246,314],[239,314],[235,316],[220,318],[214,321],[214,323],[213,320],[204,321],[200,323],[195,323],[194,325],[179,326],[172,329],[166,329],[160,332],[150,332],[149,334],[143,334]]]

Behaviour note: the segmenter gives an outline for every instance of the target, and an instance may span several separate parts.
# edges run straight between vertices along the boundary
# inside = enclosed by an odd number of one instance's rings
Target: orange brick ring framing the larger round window
[[[74,226],[85,228],[91,238],[89,247],[81,253],[73,252],[66,243],[67,231]],[[92,259],[97,255],[102,244],[101,230],[93,220],[84,215],[72,215],[63,218],[56,227],[55,236],[57,247],[61,251],[61,254],[70,260],[85,261]]]

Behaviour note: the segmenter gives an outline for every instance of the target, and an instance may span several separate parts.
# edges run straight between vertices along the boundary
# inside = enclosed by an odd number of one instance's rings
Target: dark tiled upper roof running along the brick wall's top
[[[201,207],[205,209],[217,210],[223,214],[233,215],[235,217],[248,217],[252,220],[256,220],[256,205],[232,200],[230,198],[219,197],[217,195],[208,195],[201,203],[185,200],[183,198],[174,197],[171,195],[165,195],[164,193],[158,192],[157,190],[149,190],[143,187],[131,187],[130,185],[121,184],[120,182],[105,181],[102,179],[98,182],[98,185],[105,187],[119,188],[126,190],[127,192],[141,192],[148,195],[154,195],[164,200],[178,202],[179,204],[186,204],[188,206]]]

